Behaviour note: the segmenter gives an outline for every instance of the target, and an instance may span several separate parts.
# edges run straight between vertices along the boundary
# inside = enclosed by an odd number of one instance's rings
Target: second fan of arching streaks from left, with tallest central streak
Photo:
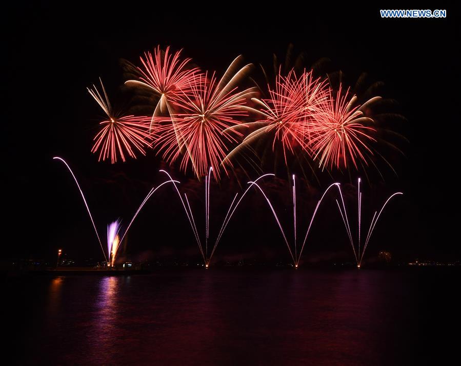
[[[209,240],[209,232],[210,232],[210,179],[211,179],[211,173],[213,171],[213,168],[212,167],[209,168],[208,175],[205,178],[205,243],[203,243],[202,240],[200,239],[200,235],[198,233],[197,226],[195,224],[195,219],[194,219],[192,209],[191,209],[190,204],[189,204],[189,199],[187,198],[186,193],[184,193],[184,199],[183,199],[183,196],[181,195],[181,193],[179,192],[179,189],[177,188],[177,186],[175,184],[177,181],[174,181],[171,178],[170,174],[167,173],[167,171],[165,171],[165,170],[161,170],[161,171],[163,173],[165,173],[170,178],[171,182],[173,182],[173,185],[174,185],[174,187],[176,189],[176,192],[177,192],[177,194],[179,196],[179,200],[181,200],[181,203],[183,205],[184,211],[186,212],[187,219],[189,220],[189,224],[190,224],[192,232],[194,233],[194,236],[195,236],[195,241],[197,242],[197,245],[198,245],[198,250],[202,254],[202,259],[204,261],[204,265],[205,265],[206,268],[208,268],[209,265],[210,265],[210,262],[211,262],[211,259],[213,257],[213,254],[214,254],[214,252],[216,250],[216,247],[217,247],[219,241],[221,240],[221,238],[222,238],[222,236],[224,234],[224,231],[226,230],[226,227],[229,224],[230,219],[232,218],[232,215],[234,214],[234,212],[237,209],[238,205],[240,204],[240,202],[242,202],[243,198],[245,197],[247,192],[250,190],[252,185],[256,184],[257,181],[259,181],[260,179],[262,179],[264,177],[274,176],[274,174],[264,174],[264,175],[260,176],[259,178],[257,178],[254,182],[249,182],[250,186],[245,190],[243,195],[240,196],[238,201],[236,201],[237,197],[238,197],[238,193],[235,194],[235,196],[234,196],[234,198],[233,198],[233,200],[232,200],[232,202],[231,202],[231,204],[229,206],[229,209],[227,211],[226,217],[224,218],[223,224],[221,225],[221,229],[219,230],[218,235],[216,236],[216,241],[214,242],[213,248],[211,249],[210,254],[208,255],[208,253],[209,253],[208,240]]]

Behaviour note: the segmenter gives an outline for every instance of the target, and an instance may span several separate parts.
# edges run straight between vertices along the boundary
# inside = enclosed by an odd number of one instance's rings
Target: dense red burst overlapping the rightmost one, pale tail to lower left
[[[228,154],[229,160],[233,154],[250,142],[262,138],[268,133],[273,133],[272,149],[280,142],[283,147],[285,162],[287,153],[293,154],[295,145],[308,152],[308,140],[311,136],[311,123],[317,114],[323,110],[327,101],[327,84],[319,78],[314,79],[312,71],[304,71],[299,77],[292,70],[288,76],[280,73],[275,80],[275,88],[269,88],[269,98],[253,98],[259,108],[251,109],[263,118],[248,123],[257,127],[255,131],[246,136],[242,144]],[[231,127],[233,129],[238,127]]]

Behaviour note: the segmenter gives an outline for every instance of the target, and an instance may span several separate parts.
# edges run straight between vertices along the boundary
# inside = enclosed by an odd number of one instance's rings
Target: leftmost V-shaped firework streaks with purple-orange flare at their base
[[[108,257],[106,256],[106,252],[104,251],[104,248],[103,248],[103,243],[101,242],[101,238],[99,238],[99,234],[97,233],[97,229],[96,229],[96,225],[94,224],[94,220],[93,220],[93,216],[91,215],[91,212],[90,212],[90,208],[88,207],[88,203],[87,203],[87,200],[85,199],[85,195],[83,194],[83,191],[82,191],[82,188],[80,187],[80,185],[78,184],[78,181],[77,181],[77,178],[75,178],[75,175],[72,171],[72,169],[70,168],[69,164],[67,164],[67,162],[63,159],[63,158],[60,158],[60,157],[54,157],[53,159],[57,159],[57,160],[61,160],[66,166],[67,168],[69,169],[70,171],[70,174],[72,175],[75,183],[77,184],[77,188],[78,190],[80,191],[80,194],[82,195],[82,199],[83,199],[83,202],[85,203],[85,206],[87,208],[87,211],[88,211],[88,215],[90,216],[90,219],[91,219],[91,223],[93,224],[93,228],[94,228],[94,232],[96,233],[96,237],[97,237],[97,240],[99,242],[99,245],[101,246],[101,250],[103,251],[103,255],[104,255],[104,259],[106,262],[108,262]],[[112,260],[111,260],[111,263],[113,265],[114,261],[115,261],[115,256],[117,254],[117,251],[118,249],[120,248],[120,245],[123,240],[125,239],[125,236],[126,234],[128,233],[128,230],[130,229],[131,227],[131,224],[133,224],[133,221],[134,219],[136,219],[136,216],[138,215],[139,211],[141,211],[141,209],[143,208],[143,206],[146,204],[146,202],[149,200],[149,198],[154,194],[154,192],[162,187],[163,185],[167,184],[167,183],[179,183],[178,181],[173,181],[173,180],[168,180],[168,181],[165,181],[161,184],[159,184],[158,186],[156,187],[152,187],[152,189],[149,191],[149,193],[147,194],[146,198],[144,199],[144,201],[141,203],[141,206],[139,206],[139,208],[137,209],[137,211],[135,212],[133,218],[131,219],[130,221],[130,224],[128,225],[127,229],[125,230],[124,234],[122,235],[122,239],[120,240],[117,240],[118,238],[118,231],[120,230],[120,223],[121,221],[120,220],[117,220],[115,222],[113,222],[112,224],[108,225],[108,254],[109,254],[109,259],[111,258],[112,256]],[[176,185],[175,185],[176,186]],[[116,246],[114,246],[114,241],[116,242]],[[108,262],[109,263],[109,262]]]

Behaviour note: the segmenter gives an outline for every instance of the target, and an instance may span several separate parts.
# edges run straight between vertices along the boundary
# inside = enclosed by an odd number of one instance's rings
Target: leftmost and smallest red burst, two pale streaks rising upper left
[[[99,79],[101,81],[101,79]],[[150,118],[137,116],[119,116],[114,113],[109,98],[101,81],[103,95],[93,85],[94,90],[88,88],[88,92],[106,113],[108,120],[99,123],[101,130],[94,137],[92,153],[99,152],[98,160],[109,159],[113,163],[119,156],[126,161],[126,155],[136,158],[135,151],[146,155],[145,147],[151,146],[149,139]]]

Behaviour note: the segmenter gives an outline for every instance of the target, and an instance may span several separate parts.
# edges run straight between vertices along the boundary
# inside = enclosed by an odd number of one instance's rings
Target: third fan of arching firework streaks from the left
[[[290,252],[291,259],[293,260],[294,267],[298,268],[299,260],[301,259],[301,255],[303,254],[304,246],[306,245],[306,241],[307,241],[307,236],[309,235],[309,231],[311,229],[312,222],[314,221],[314,218],[315,218],[315,215],[317,213],[318,207],[320,206],[320,203],[322,203],[322,200],[324,199],[325,195],[327,194],[327,192],[330,190],[331,187],[337,186],[337,188],[340,191],[339,183],[331,184],[325,190],[322,197],[318,200],[317,205],[315,206],[315,209],[314,209],[314,213],[312,214],[311,221],[309,222],[309,226],[308,226],[307,231],[306,231],[306,236],[304,237],[303,245],[301,246],[301,248],[299,250],[299,254],[297,253],[297,244],[296,244],[296,231],[297,230],[296,230],[296,185],[295,185],[295,176],[293,175],[293,223],[294,223],[293,224],[293,226],[294,226],[294,245],[293,245],[293,247],[294,247],[294,250],[292,250],[292,248],[290,247],[290,244],[289,244],[288,239],[287,239],[287,235],[285,235],[285,231],[283,230],[282,224],[280,224],[280,221],[278,220],[277,214],[275,213],[274,207],[272,206],[272,203],[270,202],[269,198],[266,196],[266,193],[264,193],[263,189],[258,184],[256,184],[256,181],[255,182],[248,182],[248,183],[251,184],[251,185],[254,184],[261,191],[261,193],[263,193],[263,196],[266,199],[267,203],[269,204],[269,207],[270,207],[270,209],[272,211],[272,214],[274,215],[275,221],[278,224],[280,232],[282,232],[283,238],[285,240],[285,244],[287,245],[288,251]],[[293,255],[293,251],[294,251],[294,255]]]

